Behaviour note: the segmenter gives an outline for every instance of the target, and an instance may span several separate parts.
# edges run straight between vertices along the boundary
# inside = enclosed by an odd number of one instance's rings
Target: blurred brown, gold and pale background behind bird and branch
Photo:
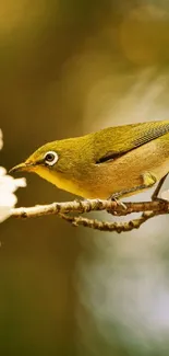
[[[1,1],[0,93],[7,169],[47,141],[169,118],[168,1]],[[26,179],[19,206],[75,198]],[[3,222],[0,355],[169,355],[168,227]]]

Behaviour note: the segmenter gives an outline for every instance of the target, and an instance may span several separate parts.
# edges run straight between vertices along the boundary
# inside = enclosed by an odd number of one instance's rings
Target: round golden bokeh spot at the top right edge
[[[162,64],[169,59],[169,14],[160,7],[132,10],[119,27],[124,56],[136,65]]]

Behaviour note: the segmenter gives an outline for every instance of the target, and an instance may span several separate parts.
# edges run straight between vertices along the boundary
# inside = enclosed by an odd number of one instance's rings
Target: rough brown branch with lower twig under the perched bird
[[[137,219],[126,222],[108,222],[88,219],[82,216],[72,216],[71,213],[84,214],[89,211],[106,210],[114,216],[126,216],[132,213],[143,213]],[[119,204],[111,200],[73,200],[65,203],[52,203],[49,205],[37,205],[28,208],[13,208],[11,216],[15,218],[35,218],[45,215],[58,215],[73,226],[84,226],[100,231],[131,231],[138,229],[142,223],[154,216],[169,214],[169,202],[141,202]]]

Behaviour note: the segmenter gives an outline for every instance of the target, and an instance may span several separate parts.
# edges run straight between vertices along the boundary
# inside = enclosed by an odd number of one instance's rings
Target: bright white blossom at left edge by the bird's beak
[[[0,149],[3,147],[2,131],[0,129]],[[17,197],[14,192],[19,187],[26,186],[26,180],[13,179],[7,174],[7,170],[0,166],[0,222],[8,219],[11,215],[11,209],[17,203]]]

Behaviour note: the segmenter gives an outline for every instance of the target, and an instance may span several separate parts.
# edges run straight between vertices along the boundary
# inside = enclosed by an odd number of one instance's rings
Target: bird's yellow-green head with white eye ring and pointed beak
[[[10,173],[35,172],[59,188],[76,193],[79,162],[84,154],[79,138],[58,140],[38,148],[25,162],[13,166]]]

